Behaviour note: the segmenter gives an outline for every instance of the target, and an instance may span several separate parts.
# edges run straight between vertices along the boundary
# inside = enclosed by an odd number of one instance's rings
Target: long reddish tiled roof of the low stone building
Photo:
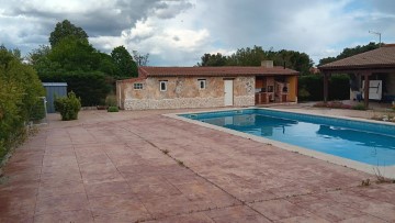
[[[298,75],[296,70],[283,67],[139,67],[139,76],[145,77],[235,77]]]

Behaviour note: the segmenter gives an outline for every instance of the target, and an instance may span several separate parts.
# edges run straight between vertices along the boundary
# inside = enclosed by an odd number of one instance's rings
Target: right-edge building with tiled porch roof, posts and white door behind
[[[324,74],[324,101],[328,98],[328,78],[332,74],[350,74],[350,99],[363,99],[366,108],[370,99],[395,100],[395,44],[386,44],[318,68]]]

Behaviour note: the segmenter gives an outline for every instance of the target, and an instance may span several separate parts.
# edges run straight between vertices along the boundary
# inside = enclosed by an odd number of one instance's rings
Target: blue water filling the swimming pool
[[[395,125],[264,109],[181,116],[374,165],[395,165]]]

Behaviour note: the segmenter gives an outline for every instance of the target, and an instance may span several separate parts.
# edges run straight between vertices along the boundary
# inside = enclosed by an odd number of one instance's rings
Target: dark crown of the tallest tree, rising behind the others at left
[[[88,34],[82,30],[74,25],[70,21],[64,20],[58,22],[55,30],[49,35],[49,44],[52,47],[56,46],[63,38],[72,36],[77,40],[88,43]]]

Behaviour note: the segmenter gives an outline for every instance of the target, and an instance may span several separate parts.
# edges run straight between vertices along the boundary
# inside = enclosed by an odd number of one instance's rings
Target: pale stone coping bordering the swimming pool
[[[363,172],[368,172],[371,175],[380,175],[386,178],[392,178],[395,179],[395,165],[391,165],[391,166],[374,166],[374,165],[369,165],[369,164],[363,164],[360,161],[356,161],[356,160],[351,160],[351,159],[347,159],[347,158],[341,158],[338,156],[334,156],[330,154],[325,154],[321,152],[316,152],[313,149],[308,149],[308,148],[304,148],[301,146],[295,146],[295,145],[291,145],[287,143],[282,143],[279,141],[273,141],[273,140],[269,140],[266,137],[260,137],[260,136],[256,136],[256,135],[251,135],[248,133],[242,133],[242,132],[238,132],[235,130],[230,130],[230,129],[226,129],[226,127],[222,127],[222,126],[217,126],[217,125],[213,125],[213,124],[208,124],[208,123],[204,123],[204,122],[200,122],[198,120],[191,120],[188,118],[183,118],[180,116],[180,114],[193,114],[193,113],[204,113],[204,112],[221,112],[221,111],[232,111],[232,110],[246,110],[246,109],[261,109],[261,110],[269,110],[269,111],[281,111],[281,112],[289,112],[289,113],[297,113],[297,114],[308,114],[308,115],[314,115],[314,116],[321,116],[321,118],[335,118],[335,119],[343,119],[343,120],[352,120],[352,121],[360,121],[360,122],[369,122],[369,123],[375,123],[375,124],[383,124],[380,121],[375,121],[375,120],[365,120],[365,119],[359,119],[359,118],[349,118],[349,116],[335,116],[335,115],[320,115],[320,114],[315,114],[315,113],[309,113],[309,112],[301,112],[301,111],[289,111],[285,109],[272,109],[272,108],[257,108],[257,107],[249,107],[249,108],[222,108],[222,109],[207,109],[207,110],[202,110],[202,111],[191,111],[191,112],[179,112],[179,113],[168,113],[168,114],[162,114],[168,118],[172,118],[172,119],[177,119],[177,120],[181,120],[184,122],[189,122],[192,124],[198,124],[204,127],[208,127],[212,130],[217,130],[221,132],[225,132],[232,135],[236,135],[236,136],[240,136],[244,138],[248,138],[248,140],[252,140],[259,143],[263,143],[263,144],[268,144],[268,145],[273,145],[276,146],[279,148],[285,149],[285,150],[290,150],[290,152],[294,152],[294,153],[298,153],[305,156],[309,156],[309,157],[314,157],[317,159],[321,159],[331,164],[336,164],[336,165],[340,165],[340,166],[345,166],[348,168],[352,168],[356,170],[360,170]],[[384,124],[388,124],[388,125],[394,125],[395,123],[384,123]]]

